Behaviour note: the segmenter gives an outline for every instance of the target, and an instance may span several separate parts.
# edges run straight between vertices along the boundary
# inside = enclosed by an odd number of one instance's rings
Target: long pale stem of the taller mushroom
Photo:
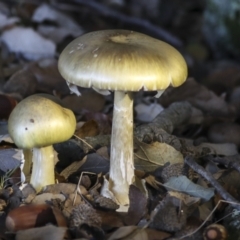
[[[133,181],[133,98],[130,92],[115,91],[109,190],[119,204],[129,204],[129,185]]]

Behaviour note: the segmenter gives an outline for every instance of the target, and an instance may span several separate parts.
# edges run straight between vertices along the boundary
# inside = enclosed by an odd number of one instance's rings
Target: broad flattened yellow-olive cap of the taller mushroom
[[[187,78],[186,62],[175,48],[129,30],[76,38],[61,53],[58,68],[71,84],[103,90],[163,90]]]

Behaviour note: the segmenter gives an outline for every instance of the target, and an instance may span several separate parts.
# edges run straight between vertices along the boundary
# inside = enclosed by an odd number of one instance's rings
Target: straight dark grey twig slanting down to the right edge
[[[206,171],[202,166],[196,163],[193,157],[187,156],[185,158],[185,163],[192,168],[195,172],[201,175],[204,179],[206,179],[219,193],[219,195],[228,202],[234,202],[236,204],[235,208],[240,211],[240,202],[238,202],[231,194],[229,194],[225,189],[216,181],[213,176]]]

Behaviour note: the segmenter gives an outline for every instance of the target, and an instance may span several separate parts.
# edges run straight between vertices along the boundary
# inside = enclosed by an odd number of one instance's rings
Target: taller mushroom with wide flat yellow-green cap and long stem
[[[132,92],[181,85],[187,66],[169,44],[128,30],[103,30],[73,40],[61,53],[58,68],[70,89],[115,91],[108,190],[120,205],[129,204],[134,182]]]

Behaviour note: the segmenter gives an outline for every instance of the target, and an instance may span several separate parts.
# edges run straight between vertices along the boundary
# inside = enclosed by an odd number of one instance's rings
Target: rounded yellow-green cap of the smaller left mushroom
[[[62,108],[40,94],[22,100],[8,119],[8,132],[14,143],[22,149],[66,141],[75,128],[76,119],[71,110]]]

